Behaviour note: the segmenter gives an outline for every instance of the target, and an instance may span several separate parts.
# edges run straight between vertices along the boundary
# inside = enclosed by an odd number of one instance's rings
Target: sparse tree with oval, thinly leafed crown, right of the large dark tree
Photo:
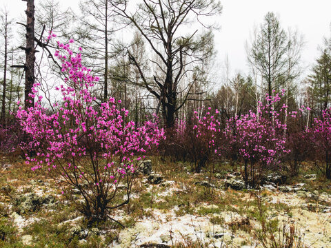
[[[270,96],[273,95],[273,90],[279,90],[279,87],[289,89],[290,82],[299,76],[297,68],[302,44],[299,33],[286,33],[273,12],[265,15],[264,22],[259,32],[255,33],[247,51],[251,68],[259,72]],[[273,106],[270,100],[271,107]],[[270,118],[271,116],[272,114]]]

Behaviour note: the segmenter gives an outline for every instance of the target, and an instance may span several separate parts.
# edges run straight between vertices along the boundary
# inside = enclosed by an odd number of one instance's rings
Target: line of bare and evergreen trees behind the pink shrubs
[[[44,96],[43,105],[54,111],[54,89],[66,83],[54,58],[59,43],[50,38],[55,36],[74,40],[83,63],[99,76],[90,89],[95,105],[110,96],[121,99],[120,107],[130,110],[126,121],[139,123],[156,113],[169,134],[183,123],[190,126],[192,118],[201,118],[208,107],[219,111],[222,130],[230,120],[250,112],[259,121],[263,103],[272,125],[277,121],[272,111],[286,106],[282,121],[288,128],[283,137],[291,138],[313,128],[314,119],[325,117],[331,106],[331,39],[325,39],[310,75],[301,79],[302,35],[285,31],[273,12],[265,14],[246,45],[249,73],[230,76],[227,59],[223,75],[215,76],[220,70],[213,34],[221,24],[214,22],[222,11],[219,1],[84,0],[77,13],[61,10],[55,0],[41,1],[35,10],[33,0],[26,2],[26,22],[12,19],[6,9],[0,14],[3,126],[13,119],[10,113],[17,110],[17,101],[26,109],[34,105],[34,83]],[[21,36],[13,32],[16,25],[23,27]],[[271,101],[277,94],[284,96]],[[303,106],[296,121],[288,118]],[[174,153],[171,147],[179,141],[167,142],[164,149]]]

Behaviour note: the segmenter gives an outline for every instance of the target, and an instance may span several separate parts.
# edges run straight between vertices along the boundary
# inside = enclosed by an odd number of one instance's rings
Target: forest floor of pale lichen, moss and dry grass
[[[226,163],[210,181],[185,163],[152,165],[163,180],[141,175],[130,203],[114,211],[125,228],[88,227],[73,204],[79,194],[62,195],[57,180],[1,156],[0,247],[331,247],[331,183],[307,176],[313,170],[236,190],[225,187],[238,175]]]

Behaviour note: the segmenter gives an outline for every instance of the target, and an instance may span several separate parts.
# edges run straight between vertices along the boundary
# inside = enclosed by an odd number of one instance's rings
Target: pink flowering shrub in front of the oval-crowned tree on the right
[[[241,118],[234,116],[228,121],[226,130],[228,141],[237,149],[239,158],[244,163],[243,178],[245,184],[256,187],[268,170],[277,169],[281,157],[290,150],[285,149],[286,124],[283,122],[285,109],[274,110],[275,103],[281,100],[279,94],[266,96],[268,104],[259,103],[258,112],[250,111]],[[295,117],[296,113],[288,115]]]

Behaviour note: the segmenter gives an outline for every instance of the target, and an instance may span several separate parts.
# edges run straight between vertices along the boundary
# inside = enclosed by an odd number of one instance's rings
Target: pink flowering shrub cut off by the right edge
[[[317,156],[315,164],[326,178],[331,179],[331,107],[323,110],[321,118],[314,118],[312,132],[314,133],[314,152]]]

